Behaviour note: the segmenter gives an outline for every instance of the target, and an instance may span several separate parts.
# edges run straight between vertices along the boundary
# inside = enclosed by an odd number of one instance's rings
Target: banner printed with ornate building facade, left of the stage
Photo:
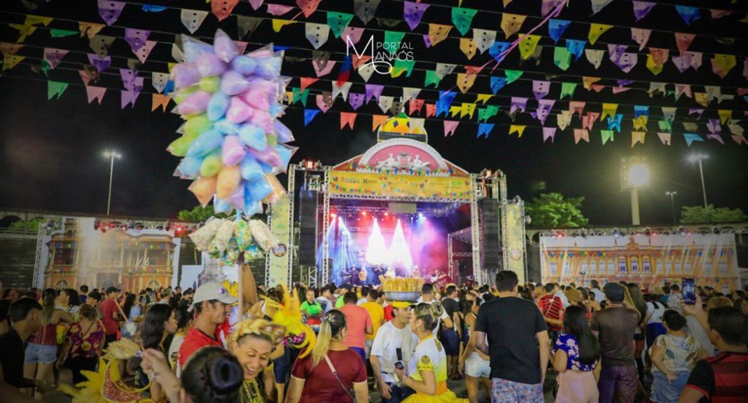
[[[93,217],[66,217],[42,238],[42,284],[35,286],[114,286],[135,293],[168,287],[179,273],[180,245],[173,228],[115,228]]]

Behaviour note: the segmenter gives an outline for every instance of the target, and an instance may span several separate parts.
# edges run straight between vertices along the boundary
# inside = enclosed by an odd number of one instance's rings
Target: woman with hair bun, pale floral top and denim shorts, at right
[[[650,351],[652,358],[652,394],[658,403],[677,403],[696,360],[707,357],[706,351],[684,331],[686,318],[668,309],[663,314],[666,334],[657,336]]]

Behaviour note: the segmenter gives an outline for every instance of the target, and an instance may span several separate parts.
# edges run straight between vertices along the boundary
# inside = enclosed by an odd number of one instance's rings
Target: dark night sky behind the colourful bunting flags
[[[273,1],[275,3],[293,4],[291,1]],[[153,30],[150,39],[159,40],[159,45],[153,49],[149,61],[141,67],[141,75],[147,76],[145,89],[135,108],[120,109],[118,91],[108,91],[101,106],[96,103],[86,103],[85,88],[76,70],[82,69],[87,62],[85,52],[88,40],[78,36],[51,38],[48,28],[39,28],[37,32],[25,41],[27,46],[19,51],[19,55],[27,58],[12,70],[8,70],[0,78],[0,206],[17,209],[53,210],[58,212],[76,212],[102,214],[106,208],[106,193],[108,186],[108,160],[102,157],[106,148],[115,148],[123,154],[122,160],[117,160],[114,166],[114,193],[112,196],[111,213],[114,215],[146,216],[169,218],[175,217],[181,209],[191,208],[197,204],[196,199],[188,192],[188,181],[180,181],[172,176],[179,160],[165,151],[166,146],[177,138],[174,130],[180,126],[178,115],[168,112],[150,112],[151,71],[166,71],[166,62],[173,61],[171,48],[166,43],[173,41],[171,33],[186,33],[180,23],[179,10],[169,9],[162,13],[149,14],[133,4],[144,4],[145,1],[133,1],[125,7],[120,19],[114,27],[104,28],[102,34],[120,36],[115,41],[110,55],[114,57],[112,67],[102,76],[102,85],[108,88],[122,88],[118,70],[126,67],[126,58],[132,58],[129,46],[121,39],[122,28],[144,28]],[[163,4],[169,7],[186,7],[208,10],[209,4],[204,1],[148,1],[148,4]],[[438,6],[431,2],[432,7],[426,11],[421,24],[415,32],[419,35],[406,34],[405,41],[412,43],[417,61],[432,61],[464,65],[480,65],[490,60],[488,52],[478,54],[471,61],[459,51],[457,39],[447,39],[434,48],[426,49],[420,34],[426,33],[426,23],[435,22],[451,24],[449,7]],[[440,4],[456,5],[457,1],[443,1]],[[494,97],[490,103],[501,106],[499,115],[489,122],[495,123],[488,139],[476,139],[477,125],[472,121],[463,120],[456,133],[449,137],[443,136],[443,118],[426,120],[426,130],[429,132],[429,145],[436,148],[447,160],[467,169],[479,172],[483,168],[501,169],[508,177],[509,197],[519,195],[530,199],[533,195],[530,189],[533,183],[545,181],[547,191],[561,192],[565,196],[585,196],[583,213],[589,217],[591,225],[626,225],[630,223],[631,213],[628,193],[619,190],[619,158],[632,154],[649,157],[652,170],[652,186],[640,192],[642,222],[644,225],[668,224],[671,221],[669,196],[665,192],[677,191],[675,203],[679,209],[681,205],[697,205],[702,203],[699,172],[696,166],[686,161],[687,154],[699,151],[709,155],[705,160],[705,181],[710,203],[717,207],[741,207],[748,211],[748,146],[738,146],[729,138],[729,130],[723,126],[725,145],[714,140],[695,143],[687,148],[681,133],[683,121],[699,123],[699,133],[705,136],[705,123],[708,118],[716,117],[717,109],[733,109],[733,118],[737,119],[747,109],[747,103],[742,97],[726,100],[717,105],[712,102],[704,117],[687,115],[689,108],[701,107],[687,97],[681,97],[677,102],[672,95],[663,98],[660,95],[649,97],[646,91],[632,90],[613,95],[610,86],[615,85],[616,79],[633,79],[636,82],[629,85],[632,88],[649,88],[649,82],[679,82],[696,85],[694,91],[702,91],[702,85],[721,85],[726,87],[725,94],[734,94],[735,87],[746,86],[741,76],[743,58],[747,55],[746,24],[738,22],[745,16],[747,4],[732,4],[730,1],[709,1],[709,7],[736,10],[730,16],[711,20],[708,10],[701,9],[702,19],[687,26],[673,10],[672,6],[658,3],[652,13],[640,22],[634,22],[631,12],[631,1],[613,1],[601,13],[590,17],[589,1],[571,0],[559,18],[571,19],[571,26],[563,37],[586,39],[588,25],[586,21],[610,23],[624,27],[653,28],[652,37],[647,46],[669,48],[671,57],[677,55],[673,31],[687,31],[699,34],[689,50],[699,52],[717,52],[738,55],[736,66],[725,79],[720,79],[711,72],[711,53],[704,55],[702,67],[694,72],[688,70],[679,73],[672,62],[668,61],[663,73],[652,75],[644,66],[647,49],[640,52],[639,64],[631,73],[623,73],[606,58],[602,66],[595,70],[586,58],[572,61],[571,67],[565,72],[553,64],[553,41],[545,37],[541,45],[547,45],[543,50],[542,62],[539,65],[529,60],[520,63],[518,51],[512,52],[500,65],[502,68],[524,70],[522,78],[500,90],[503,97]],[[77,29],[76,21],[101,22],[96,13],[96,1],[86,0],[76,2],[82,4],[79,9],[70,7],[70,3],[52,0],[49,3],[40,2],[40,8],[34,11],[37,15],[55,16],[50,28]],[[84,5],[85,4],[85,5]],[[677,4],[702,5],[702,1],[678,1]],[[500,31],[500,15],[503,11],[501,1],[465,0],[462,7],[477,8],[480,11],[473,19],[473,28],[494,29]],[[352,1],[322,1],[319,10],[310,18],[299,16],[300,21],[325,22],[325,14],[320,10],[337,10],[353,12]],[[494,13],[486,13],[492,11]],[[531,14],[539,16],[539,1],[515,0],[506,11],[509,13]],[[0,6],[0,41],[14,42],[17,31],[9,29],[7,23],[22,23],[23,13],[27,11],[18,0],[4,1]],[[278,18],[289,19],[296,11]],[[234,13],[254,16],[269,16],[265,7],[251,11],[251,7],[242,1]],[[376,14],[378,17],[402,19],[402,1],[383,0]],[[62,20],[67,19],[67,20]],[[524,22],[524,31],[539,22],[538,18],[528,18]],[[363,26],[357,17],[351,26]],[[115,28],[120,27],[120,28]],[[215,16],[209,15],[201,28],[198,37],[209,37],[215,28],[224,28],[230,36],[236,39],[236,22],[230,17],[218,23]],[[366,25],[375,28],[372,33],[375,39],[381,40],[382,31],[373,20]],[[389,28],[388,28],[389,29]],[[401,22],[395,31],[409,32],[408,26]],[[156,32],[158,31],[158,32]],[[546,27],[540,28],[539,33],[548,35]],[[293,46],[286,55],[292,57],[309,58],[312,46],[304,39],[303,24],[289,25],[281,33],[272,31],[269,21],[264,21],[251,37],[248,49],[255,49],[262,43],[274,42],[281,46]],[[364,32],[363,38],[370,33]],[[629,52],[636,52],[637,46],[631,40],[629,28],[613,28],[601,37],[593,46],[603,49],[606,43],[621,43],[631,45]],[[705,35],[709,35],[708,37]],[[467,36],[472,36],[468,33]],[[717,43],[713,37],[737,37],[732,46]],[[456,28],[450,32],[450,37],[459,37]],[[514,37],[512,37],[512,40]],[[362,39],[364,40],[364,39]],[[497,40],[504,40],[499,32]],[[562,45],[559,41],[558,46]],[[72,84],[60,100],[46,100],[46,77],[36,73],[32,67],[38,67],[45,46],[61,49],[73,49],[55,70],[50,71],[50,79],[67,81]],[[588,44],[589,46],[589,44]],[[343,41],[330,34],[328,43],[321,48],[334,52],[334,60],[342,60],[345,55]],[[339,64],[340,65],[340,62]],[[434,64],[426,65],[434,68]],[[389,76],[377,76],[370,79],[370,83],[387,85],[385,95],[401,95],[402,86],[423,88],[424,67],[416,64],[416,70],[408,79],[401,77],[392,79]],[[313,107],[313,94],[329,91],[330,80],[337,77],[339,67],[322,77],[319,82],[311,85],[311,94],[307,107]],[[457,71],[463,71],[458,67]],[[283,73],[289,76],[314,76],[310,61],[286,61]],[[488,69],[490,73],[490,69]],[[458,94],[456,103],[474,102],[474,93],[490,93],[486,70],[482,72],[476,84],[470,89],[473,95]],[[503,76],[500,68],[495,75]],[[551,76],[548,76],[551,74]],[[439,85],[439,90],[452,88],[455,74],[447,76]],[[616,140],[607,145],[601,145],[599,130],[603,123],[598,121],[590,131],[590,142],[580,142],[574,145],[574,127],[580,127],[580,120],[573,118],[571,126],[566,130],[557,131],[554,144],[542,142],[539,121],[533,119],[529,113],[521,113],[515,118],[516,124],[527,124],[524,136],[518,139],[516,135],[507,134],[510,118],[505,111],[509,109],[509,97],[521,96],[532,98],[532,79],[551,79],[549,99],[558,99],[560,84],[558,82],[581,82],[581,76],[601,76],[602,84],[606,85],[600,93],[586,91],[581,84],[577,86],[574,100],[587,102],[586,111],[600,112],[602,102],[621,103],[619,113],[624,113],[622,133],[616,133]],[[548,77],[548,78],[546,78]],[[364,92],[364,81],[358,73],[352,73],[351,81],[355,82],[352,92]],[[298,78],[291,82],[290,87],[298,87]],[[729,88],[729,89],[728,89]],[[672,90],[672,84],[668,85]],[[438,93],[430,87],[421,92],[420,98],[426,103],[435,102]],[[557,101],[554,113],[568,107],[568,98]],[[624,104],[626,106],[624,106]],[[633,104],[651,105],[648,125],[648,135],[645,145],[631,148],[631,110]],[[170,106],[173,106],[172,103]],[[535,109],[535,101],[530,100],[527,112]],[[673,124],[672,146],[662,145],[657,139],[657,120],[661,118],[659,106],[676,106],[678,112]],[[361,154],[375,143],[375,134],[371,131],[371,117],[359,115],[355,130],[340,130],[339,114],[335,111],[351,111],[347,103],[340,98],[327,114],[320,113],[314,121],[304,127],[301,105],[295,104],[287,109],[286,116],[281,120],[288,125],[295,135],[295,145],[300,149],[295,154],[293,163],[303,158],[321,160],[325,164],[340,163],[357,154]],[[407,109],[406,109],[407,110]],[[357,112],[381,114],[374,102],[363,106]],[[422,112],[423,113],[423,112]],[[423,115],[415,115],[423,116]],[[546,127],[556,127],[556,118],[548,118]],[[285,177],[281,177],[285,184]]]

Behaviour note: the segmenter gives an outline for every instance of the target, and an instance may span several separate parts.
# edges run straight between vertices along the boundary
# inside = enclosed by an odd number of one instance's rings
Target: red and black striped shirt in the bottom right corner
[[[698,391],[712,403],[746,402],[748,353],[724,352],[700,360],[686,387]]]

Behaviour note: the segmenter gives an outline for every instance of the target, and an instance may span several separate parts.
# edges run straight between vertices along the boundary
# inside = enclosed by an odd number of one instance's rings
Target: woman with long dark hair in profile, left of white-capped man
[[[165,340],[169,335],[177,331],[177,319],[174,318],[174,309],[165,303],[156,303],[145,312],[141,326],[138,329],[138,338],[143,348],[153,348],[166,354],[168,345]],[[141,368],[140,359],[132,360],[135,369],[135,387],[138,389],[150,387],[141,393],[144,399],[153,399],[159,402],[165,396],[164,392],[156,382],[150,382],[148,375]]]

